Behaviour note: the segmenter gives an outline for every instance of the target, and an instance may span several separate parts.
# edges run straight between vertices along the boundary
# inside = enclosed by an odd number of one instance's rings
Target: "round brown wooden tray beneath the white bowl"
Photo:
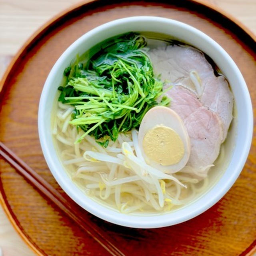
[[[240,68],[256,110],[255,36],[220,10],[198,1],[93,1],[63,12],[20,50],[2,82],[0,140],[70,200],[48,170],[38,139],[44,81],[60,54],[88,30],[117,18],[162,16],[190,24],[218,42]],[[0,86],[1,88],[1,86]],[[87,233],[0,159],[0,199],[10,220],[39,255],[108,255]],[[229,192],[200,216],[167,228],[132,229],[87,214],[126,255],[246,255],[256,237],[256,134]],[[78,207],[74,205],[74,207]]]

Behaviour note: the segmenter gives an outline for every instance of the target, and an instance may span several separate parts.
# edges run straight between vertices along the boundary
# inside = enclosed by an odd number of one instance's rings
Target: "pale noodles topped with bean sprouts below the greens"
[[[59,104],[58,113],[62,110],[63,106]],[[72,180],[88,196],[98,198],[123,213],[164,212],[173,206],[182,206],[208,186],[207,178],[200,182],[201,186],[196,186],[198,179],[190,176],[191,171],[196,176],[205,176],[202,174],[203,169],[186,167],[176,174],[164,174],[147,166],[138,147],[136,130],[120,134],[118,140],[110,141],[107,148],[100,146],[90,136],[86,136],[80,143],[74,143],[84,132],[80,130],[77,133],[76,127],[68,123],[70,110],[65,108],[64,113],[56,116],[54,135],[59,141],[63,164],[70,174],[73,170]],[[135,155],[127,152],[127,155],[123,154],[126,150],[131,150]]]

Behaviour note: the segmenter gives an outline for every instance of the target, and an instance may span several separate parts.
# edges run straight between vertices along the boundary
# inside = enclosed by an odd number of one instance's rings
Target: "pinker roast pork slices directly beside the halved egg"
[[[220,118],[183,86],[173,86],[166,95],[172,100],[170,108],[182,118],[190,137],[188,165],[201,168],[212,164],[218,157],[223,137]]]

